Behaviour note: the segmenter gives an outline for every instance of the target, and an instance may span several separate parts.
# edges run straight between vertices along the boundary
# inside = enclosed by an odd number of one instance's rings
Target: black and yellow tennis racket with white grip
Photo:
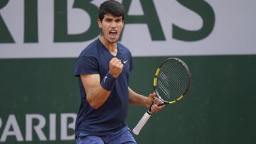
[[[191,72],[186,63],[176,57],[170,57],[164,60],[154,75],[154,92],[157,98],[163,101],[158,106],[174,104],[180,101],[188,93],[190,86]],[[153,104],[154,101],[151,106]],[[152,114],[151,106],[132,130],[135,135],[139,135],[139,131],[142,130],[146,121],[149,120]]]

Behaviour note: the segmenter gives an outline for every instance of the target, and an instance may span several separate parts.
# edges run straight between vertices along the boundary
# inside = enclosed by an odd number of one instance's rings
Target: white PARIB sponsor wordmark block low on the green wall
[[[76,113],[26,113],[0,116],[0,143],[55,141],[75,139]]]

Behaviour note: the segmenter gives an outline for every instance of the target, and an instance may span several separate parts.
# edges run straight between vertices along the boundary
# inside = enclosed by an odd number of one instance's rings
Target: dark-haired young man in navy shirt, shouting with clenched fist
[[[110,0],[100,5],[100,37],[75,62],[81,103],[75,124],[80,143],[136,143],[125,123],[129,104],[149,107],[156,94],[142,96],[128,87],[132,54],[117,42],[124,26],[124,7]],[[161,103],[159,99],[156,104]],[[163,106],[152,106],[157,112]]]

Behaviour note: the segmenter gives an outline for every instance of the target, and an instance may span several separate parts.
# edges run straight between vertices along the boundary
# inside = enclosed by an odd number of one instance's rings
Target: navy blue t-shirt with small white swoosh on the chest
[[[92,42],[80,53],[75,62],[75,77],[78,77],[80,86],[80,109],[75,123],[75,135],[109,135],[127,126],[124,119],[127,117],[129,105],[128,82],[129,72],[132,71],[131,52],[117,43],[117,55],[124,65],[110,92],[110,96],[99,109],[93,109],[86,100],[85,89],[79,77],[80,74],[100,74],[100,81],[109,72],[109,62],[114,56],[105,48],[99,39]]]

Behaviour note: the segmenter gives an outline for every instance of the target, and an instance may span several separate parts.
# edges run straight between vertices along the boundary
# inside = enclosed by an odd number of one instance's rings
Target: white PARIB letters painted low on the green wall
[[[33,138],[35,138],[33,135],[37,135],[38,139],[41,141],[53,141],[57,140],[57,133],[60,133],[58,134],[60,135],[60,138],[58,140],[74,140],[75,134],[69,134],[68,130],[75,130],[76,116],[76,113],[60,113],[60,131],[56,131],[57,123],[55,113],[49,114],[48,121],[46,121],[46,116],[38,113],[26,114],[26,129],[24,130],[25,136],[23,137],[20,126],[18,125],[21,124],[21,121],[23,120],[18,119],[18,123],[16,116],[14,114],[10,114],[6,121],[3,121],[2,118],[0,118],[0,142],[6,142],[8,141],[8,138],[14,137],[18,142],[33,141]],[[72,120],[72,122],[68,122],[68,119]],[[33,121],[38,121],[38,123],[34,125]],[[46,125],[49,126],[48,133],[46,133],[46,131],[43,131]],[[4,128],[2,132],[1,128]],[[46,137],[46,135],[48,135],[48,138]],[[23,138],[25,138],[25,140]]]

